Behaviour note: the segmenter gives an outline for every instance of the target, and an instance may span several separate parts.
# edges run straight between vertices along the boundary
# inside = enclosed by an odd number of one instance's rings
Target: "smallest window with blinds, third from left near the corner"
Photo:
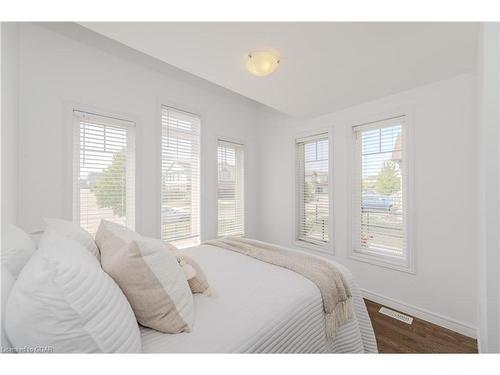
[[[243,145],[219,140],[217,146],[218,235],[245,234]]]

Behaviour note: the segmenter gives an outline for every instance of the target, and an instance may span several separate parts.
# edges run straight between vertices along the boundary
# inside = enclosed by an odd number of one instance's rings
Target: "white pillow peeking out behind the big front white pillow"
[[[97,259],[101,259],[99,249],[94,238],[85,229],[79,225],[61,219],[45,219],[45,232],[40,238],[38,247],[49,247],[51,243],[57,242],[59,237],[66,237],[75,240],[84,248],[90,251]]]

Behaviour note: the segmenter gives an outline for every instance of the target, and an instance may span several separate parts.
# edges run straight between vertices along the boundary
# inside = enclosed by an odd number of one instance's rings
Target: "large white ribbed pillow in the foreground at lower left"
[[[19,275],[6,308],[14,347],[64,353],[141,351],[132,308],[97,259],[74,240],[40,247]]]

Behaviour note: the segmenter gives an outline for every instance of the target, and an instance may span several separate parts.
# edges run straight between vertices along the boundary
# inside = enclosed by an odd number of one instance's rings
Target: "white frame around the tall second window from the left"
[[[203,192],[203,184],[204,184],[204,170],[205,170],[205,162],[204,162],[204,145],[203,145],[203,142],[204,142],[204,131],[203,131],[203,115],[201,114],[201,111],[195,109],[195,108],[188,108],[184,105],[180,105],[178,103],[174,103],[174,102],[171,102],[170,100],[167,100],[167,99],[162,99],[162,98],[158,98],[157,100],[157,105],[158,105],[158,123],[159,123],[159,127],[158,127],[158,160],[159,160],[159,163],[158,163],[158,186],[159,186],[159,191],[158,191],[158,204],[157,204],[157,231],[158,231],[158,238],[162,238],[162,233],[161,233],[161,226],[162,226],[162,209],[161,209],[161,206],[162,206],[162,134],[163,134],[163,123],[162,123],[162,114],[163,114],[163,108],[167,108],[167,109],[172,109],[174,111],[177,111],[177,112],[181,112],[181,113],[185,113],[185,114],[188,114],[190,116],[193,116],[193,117],[196,117],[199,119],[200,121],[200,129],[199,129],[199,150],[198,150],[198,154],[199,154],[199,161],[198,161],[198,168],[199,168],[199,171],[198,171],[198,178],[199,178],[199,181],[198,181],[198,185],[199,185],[199,192],[198,192],[198,244],[203,242],[205,240],[205,233],[206,233],[206,230],[205,228],[203,227],[204,223],[205,223],[205,220],[204,220],[204,217],[203,217],[203,213],[204,213],[204,192]],[[194,238],[194,237],[193,237]],[[178,239],[178,240],[174,240],[173,242],[181,242],[185,240],[186,243],[189,242],[189,238],[187,239]],[[176,245],[177,246],[177,245]],[[194,246],[194,245],[191,245],[191,244],[181,244],[181,247],[180,248],[188,248],[188,247],[191,247],[191,246]]]

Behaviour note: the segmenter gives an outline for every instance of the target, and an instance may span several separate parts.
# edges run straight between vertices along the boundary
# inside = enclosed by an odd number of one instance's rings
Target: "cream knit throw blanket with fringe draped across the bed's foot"
[[[342,273],[327,260],[241,237],[224,237],[207,241],[205,244],[236,251],[263,262],[287,268],[315,283],[323,298],[328,338],[335,338],[336,329],[347,323],[353,316],[351,290]]]

